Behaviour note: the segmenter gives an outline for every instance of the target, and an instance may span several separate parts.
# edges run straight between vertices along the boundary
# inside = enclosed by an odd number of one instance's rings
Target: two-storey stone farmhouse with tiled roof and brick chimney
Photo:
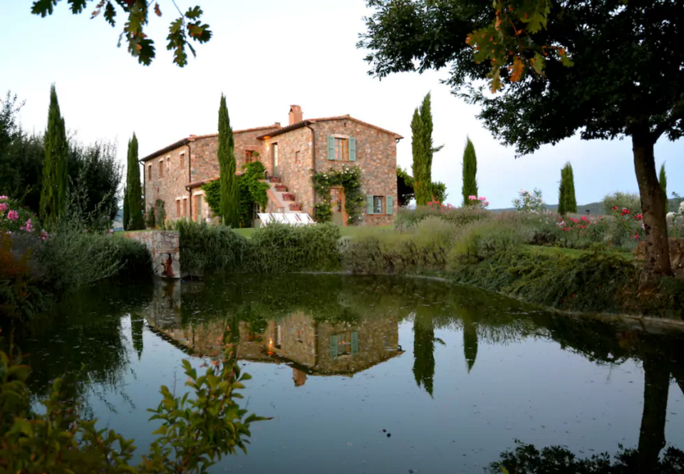
[[[270,183],[267,212],[301,210],[314,216],[316,202],[327,197],[314,192],[312,170],[341,170],[358,165],[366,195],[362,222],[388,225],[398,208],[397,143],[403,137],[349,115],[304,119],[299,105],[291,105],[289,123],[233,130],[237,173],[242,165],[261,160]],[[145,209],[164,202],[167,219],[209,222],[212,212],[202,184],[219,177],[217,133],[190,135],[142,158]],[[343,188],[331,189],[333,222],[346,225]],[[258,225],[258,210],[254,210]]]

